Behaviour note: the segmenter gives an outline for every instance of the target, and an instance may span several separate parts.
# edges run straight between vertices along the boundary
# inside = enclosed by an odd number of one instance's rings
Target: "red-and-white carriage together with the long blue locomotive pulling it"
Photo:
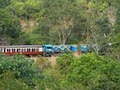
[[[42,55],[51,56],[62,52],[77,52],[77,45],[9,45],[0,46],[3,55]]]

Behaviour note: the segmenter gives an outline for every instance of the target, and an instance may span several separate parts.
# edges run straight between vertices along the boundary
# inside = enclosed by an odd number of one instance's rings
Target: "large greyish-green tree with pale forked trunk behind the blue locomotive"
[[[51,42],[59,41],[59,44],[65,44],[72,34],[77,36],[77,33],[82,31],[85,18],[81,14],[82,9],[77,0],[43,1],[42,5],[43,13],[39,19],[37,30],[40,33],[48,32],[47,37],[50,36],[54,40]]]

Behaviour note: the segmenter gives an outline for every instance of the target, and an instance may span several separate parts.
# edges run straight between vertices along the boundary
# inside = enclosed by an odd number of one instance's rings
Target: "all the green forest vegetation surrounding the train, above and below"
[[[60,55],[55,66],[1,55],[0,90],[120,90],[120,0],[0,0],[0,45],[42,44],[94,52]]]

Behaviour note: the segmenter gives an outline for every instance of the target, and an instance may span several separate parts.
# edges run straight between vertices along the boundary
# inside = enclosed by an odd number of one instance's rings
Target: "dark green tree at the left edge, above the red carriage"
[[[5,9],[0,9],[0,44],[11,44],[20,33],[19,21]]]

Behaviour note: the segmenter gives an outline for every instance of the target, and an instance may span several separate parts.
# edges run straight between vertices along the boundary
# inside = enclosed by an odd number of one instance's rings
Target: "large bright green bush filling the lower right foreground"
[[[117,60],[95,54],[79,58],[63,55],[58,58],[58,66],[61,72],[67,71],[64,79],[69,84],[77,83],[92,90],[120,90],[120,62]]]

